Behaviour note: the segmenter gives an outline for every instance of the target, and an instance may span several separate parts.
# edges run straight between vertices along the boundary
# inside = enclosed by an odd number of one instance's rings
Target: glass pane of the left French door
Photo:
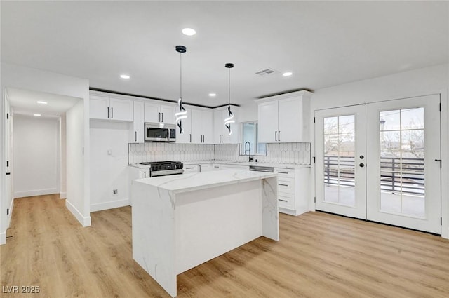
[[[355,205],[355,116],[324,118],[324,201]]]

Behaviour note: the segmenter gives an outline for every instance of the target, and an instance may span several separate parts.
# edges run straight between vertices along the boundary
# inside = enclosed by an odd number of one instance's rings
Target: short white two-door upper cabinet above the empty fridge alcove
[[[112,121],[133,121],[133,101],[91,95],[90,118]]]

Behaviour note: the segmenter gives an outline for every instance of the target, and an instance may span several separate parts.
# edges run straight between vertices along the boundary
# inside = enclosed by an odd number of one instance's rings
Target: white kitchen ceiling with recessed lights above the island
[[[0,3],[3,62],[177,100],[180,44],[182,97],[206,106],[227,103],[227,62],[235,104],[449,62],[448,1]],[[293,76],[255,74],[269,67]]]

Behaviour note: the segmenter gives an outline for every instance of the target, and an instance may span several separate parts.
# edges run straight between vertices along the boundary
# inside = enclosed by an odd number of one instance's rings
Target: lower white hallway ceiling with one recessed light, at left
[[[6,90],[9,104],[14,107],[14,113],[29,116],[33,114],[41,114],[43,117],[61,116],[79,100],[76,97],[17,88],[6,88]],[[47,102],[47,104],[38,104],[38,101]]]

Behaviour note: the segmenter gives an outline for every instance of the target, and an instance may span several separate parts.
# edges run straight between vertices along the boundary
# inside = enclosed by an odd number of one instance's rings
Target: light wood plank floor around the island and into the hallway
[[[15,199],[1,297],[169,297],[133,261],[131,208],[83,228],[56,196]],[[177,277],[178,297],[448,298],[449,241],[319,212],[280,217],[281,241],[257,240]],[[2,291],[3,292],[3,291]]]

